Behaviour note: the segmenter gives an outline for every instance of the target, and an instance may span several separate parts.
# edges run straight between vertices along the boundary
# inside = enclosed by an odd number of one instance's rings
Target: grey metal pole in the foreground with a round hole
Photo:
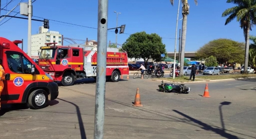
[[[95,95],[94,139],[103,139],[105,118],[107,36],[108,36],[108,0],[98,3],[98,49]]]

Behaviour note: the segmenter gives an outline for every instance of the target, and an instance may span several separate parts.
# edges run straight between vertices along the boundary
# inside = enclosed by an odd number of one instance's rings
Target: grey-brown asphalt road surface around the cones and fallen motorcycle
[[[126,78],[126,77],[124,77]],[[186,83],[189,94],[158,92],[160,82],[106,83],[104,139],[255,139],[256,79]],[[133,107],[136,88],[143,107]],[[1,139],[93,139],[95,80],[59,88],[40,110],[3,106]]]

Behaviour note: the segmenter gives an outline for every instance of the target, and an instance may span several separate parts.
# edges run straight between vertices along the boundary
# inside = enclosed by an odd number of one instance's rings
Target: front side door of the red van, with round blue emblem
[[[20,103],[27,86],[37,85],[37,77],[31,74],[32,64],[22,53],[6,51],[3,57],[7,63],[5,73],[10,74],[4,86],[7,103]]]

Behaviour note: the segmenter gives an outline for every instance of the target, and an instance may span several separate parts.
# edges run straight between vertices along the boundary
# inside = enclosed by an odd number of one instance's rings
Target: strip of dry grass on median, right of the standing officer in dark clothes
[[[200,79],[208,79],[208,80],[220,80],[220,79],[235,79],[235,78],[246,78],[246,77],[256,77],[256,74],[233,74],[233,75],[207,75],[207,76],[196,76],[196,78]]]

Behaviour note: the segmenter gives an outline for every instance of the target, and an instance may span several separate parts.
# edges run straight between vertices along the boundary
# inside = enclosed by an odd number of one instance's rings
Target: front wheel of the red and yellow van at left
[[[28,104],[32,109],[42,109],[47,105],[48,95],[45,90],[37,89],[30,93]]]

